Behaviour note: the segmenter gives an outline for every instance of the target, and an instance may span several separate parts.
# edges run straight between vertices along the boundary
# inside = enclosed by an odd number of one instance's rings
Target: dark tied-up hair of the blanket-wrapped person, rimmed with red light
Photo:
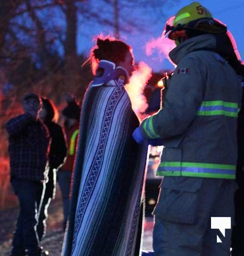
[[[131,46],[121,40],[98,38],[96,45],[90,52],[93,73],[95,73],[100,60],[108,60],[117,65],[119,62],[125,60],[128,51],[132,51]]]

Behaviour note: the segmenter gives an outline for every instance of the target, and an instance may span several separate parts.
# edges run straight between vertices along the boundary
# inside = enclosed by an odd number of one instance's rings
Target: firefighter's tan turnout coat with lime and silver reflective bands
[[[188,39],[170,54],[177,64],[163,108],[140,126],[145,138],[163,138],[160,176],[235,179],[241,86],[216,53],[211,34]]]

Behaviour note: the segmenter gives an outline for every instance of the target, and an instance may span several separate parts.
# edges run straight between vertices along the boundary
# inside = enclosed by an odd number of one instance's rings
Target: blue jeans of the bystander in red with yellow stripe
[[[69,195],[70,195],[72,171],[60,169],[57,173],[57,176],[58,176],[58,184],[60,186],[62,199],[63,199],[64,226],[66,226],[66,222],[68,220],[69,210],[70,210]]]

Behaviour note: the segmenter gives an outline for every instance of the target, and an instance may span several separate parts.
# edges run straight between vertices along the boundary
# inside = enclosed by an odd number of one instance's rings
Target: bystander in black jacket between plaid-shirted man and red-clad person
[[[52,139],[49,152],[48,182],[46,184],[46,191],[37,226],[38,237],[41,241],[46,234],[47,208],[51,199],[55,198],[56,172],[65,161],[67,148],[64,132],[61,126],[56,123],[58,120],[58,111],[52,100],[42,98],[42,110],[40,111],[39,117],[47,126]]]

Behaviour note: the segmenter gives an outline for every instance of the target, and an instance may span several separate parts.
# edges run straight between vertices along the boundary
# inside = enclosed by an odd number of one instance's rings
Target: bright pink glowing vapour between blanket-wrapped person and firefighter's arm
[[[151,76],[152,69],[146,63],[139,62],[137,70],[132,73],[129,83],[125,86],[131,99],[132,109],[140,121],[144,117],[141,113],[148,107],[143,91]]]

